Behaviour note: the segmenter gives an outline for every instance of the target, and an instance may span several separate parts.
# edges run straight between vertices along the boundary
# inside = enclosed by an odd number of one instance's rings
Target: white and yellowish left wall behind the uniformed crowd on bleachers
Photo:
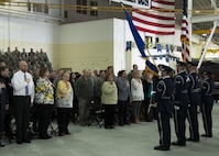
[[[26,52],[30,52],[30,48],[34,51],[43,48],[56,66],[59,24],[0,15],[0,49],[6,52],[7,47],[11,47],[13,51],[18,46],[20,51],[25,48]]]

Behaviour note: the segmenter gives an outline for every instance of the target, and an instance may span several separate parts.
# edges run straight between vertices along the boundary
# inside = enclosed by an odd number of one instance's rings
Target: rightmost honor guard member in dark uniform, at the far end
[[[204,137],[212,137],[212,90],[215,88],[215,82],[212,79],[212,73],[209,70],[205,70],[202,73],[204,82],[201,85],[201,112],[202,112],[202,121],[204,129],[206,134],[202,134]]]

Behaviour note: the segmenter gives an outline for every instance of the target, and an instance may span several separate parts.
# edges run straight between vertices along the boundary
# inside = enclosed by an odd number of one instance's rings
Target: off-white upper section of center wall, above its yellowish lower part
[[[112,41],[112,19],[61,25],[61,44]]]

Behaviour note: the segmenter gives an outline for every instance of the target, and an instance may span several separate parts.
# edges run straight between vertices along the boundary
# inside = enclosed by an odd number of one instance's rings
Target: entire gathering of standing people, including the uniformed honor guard
[[[17,54],[17,51],[13,53]],[[63,69],[53,71],[43,53],[43,60],[33,60],[37,63],[36,66],[32,64],[32,54],[29,55],[31,58],[20,54],[22,57],[17,60],[15,69],[10,68],[11,64],[8,65],[6,59],[0,63],[0,136],[13,137],[10,124],[14,118],[18,144],[31,143],[28,129],[32,108],[36,108],[37,112],[35,130],[39,138],[50,140],[52,136],[47,134],[47,129],[53,112],[57,116],[58,136],[70,135],[70,120],[81,126],[89,125],[91,101],[105,110],[105,129],[156,119],[160,145],[154,149],[169,151],[171,145],[185,146],[186,141],[199,142],[198,107],[201,108],[206,131],[201,136],[212,137],[212,74],[205,70],[200,77],[194,63],[177,62],[175,76],[174,70],[165,65],[158,66],[160,76],[153,76],[147,68],[140,71],[136,65],[129,74],[120,70],[118,76],[113,73],[113,66],[100,71],[84,69],[80,75]],[[10,70],[13,70],[12,75]],[[177,141],[171,143],[172,116]],[[189,122],[188,138],[185,135],[186,119]],[[4,146],[1,137],[0,146]]]

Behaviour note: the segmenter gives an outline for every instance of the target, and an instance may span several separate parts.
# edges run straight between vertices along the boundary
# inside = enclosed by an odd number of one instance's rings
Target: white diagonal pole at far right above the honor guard
[[[201,64],[202,64],[202,62],[204,62],[204,59],[205,59],[205,55],[206,55],[208,45],[209,45],[209,43],[211,42],[212,35],[215,34],[217,26],[218,26],[218,21],[215,21],[215,22],[213,22],[213,27],[212,27],[212,30],[211,30],[211,32],[210,32],[210,35],[209,35],[208,41],[207,41],[207,43],[206,43],[206,46],[205,46],[205,48],[204,48],[204,51],[202,51],[202,53],[201,53],[201,57],[200,57],[200,59],[199,59],[197,69],[200,68],[200,66],[201,66]]]

